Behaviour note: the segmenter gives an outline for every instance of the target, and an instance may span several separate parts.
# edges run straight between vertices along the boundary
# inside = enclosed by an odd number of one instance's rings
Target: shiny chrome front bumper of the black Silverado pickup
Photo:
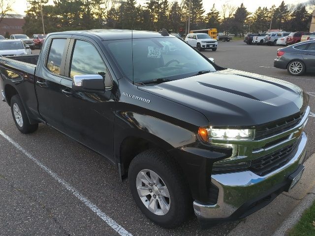
[[[308,114],[305,119],[307,116]],[[211,182],[219,189],[218,202],[215,205],[204,205],[194,201],[194,212],[199,221],[234,219],[235,215],[244,215],[240,211],[253,203],[253,200],[258,202],[264,199],[268,195],[266,193],[277,192],[278,195],[283,192],[284,186],[289,184],[288,176],[301,166],[306,146],[307,136],[302,132],[297,150],[290,161],[265,176],[258,176],[250,170],[212,175]],[[280,187],[275,188],[276,186]]]

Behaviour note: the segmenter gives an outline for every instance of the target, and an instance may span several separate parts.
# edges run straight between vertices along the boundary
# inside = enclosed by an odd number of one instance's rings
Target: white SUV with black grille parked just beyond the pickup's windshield
[[[189,33],[187,34],[185,41],[192,47],[197,48],[199,51],[204,49],[217,51],[218,48],[218,41],[211,38],[207,33]]]

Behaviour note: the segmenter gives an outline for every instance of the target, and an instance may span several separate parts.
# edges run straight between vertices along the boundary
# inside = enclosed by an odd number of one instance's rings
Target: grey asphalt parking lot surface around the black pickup
[[[273,68],[277,48],[231,41],[219,42],[216,52],[203,53],[221,66],[282,79],[309,92],[310,156],[315,152],[315,74],[293,77]],[[43,124],[35,133],[22,135],[3,102],[0,134],[1,236],[225,236],[239,223],[201,230],[191,216],[177,229],[156,226],[136,207],[127,181],[120,182],[116,168],[105,158]]]

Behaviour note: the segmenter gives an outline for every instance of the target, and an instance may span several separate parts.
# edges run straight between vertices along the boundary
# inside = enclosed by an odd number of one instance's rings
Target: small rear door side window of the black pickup
[[[66,45],[65,38],[55,38],[52,40],[48,58],[46,61],[46,67],[52,73],[60,75],[61,61],[63,58],[64,46]],[[63,65],[64,66],[64,65]]]

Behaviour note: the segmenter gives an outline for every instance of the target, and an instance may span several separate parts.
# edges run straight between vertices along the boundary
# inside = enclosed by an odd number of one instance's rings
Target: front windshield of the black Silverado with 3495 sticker
[[[175,37],[109,40],[104,44],[134,83],[165,82],[216,71],[211,62]]]

